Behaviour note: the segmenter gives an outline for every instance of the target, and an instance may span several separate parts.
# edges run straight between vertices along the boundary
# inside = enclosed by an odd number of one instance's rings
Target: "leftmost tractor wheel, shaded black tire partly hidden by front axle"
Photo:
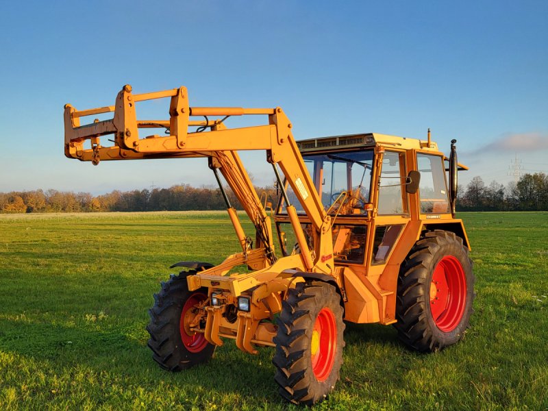
[[[215,349],[203,334],[184,329],[185,321],[196,310],[195,305],[208,298],[207,288],[188,290],[187,275],[172,274],[169,281],[162,282],[162,289],[154,295],[155,303],[149,310],[148,346],[153,360],[168,371],[181,371],[206,362]]]

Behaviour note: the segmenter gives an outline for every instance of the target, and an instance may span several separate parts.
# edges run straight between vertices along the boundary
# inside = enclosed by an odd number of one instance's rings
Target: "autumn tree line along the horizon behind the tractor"
[[[276,189],[272,186],[256,188],[275,203]],[[240,203],[232,190],[227,189],[232,206]],[[263,195],[264,196],[264,195]],[[263,197],[264,199],[264,197]],[[225,210],[219,188],[188,184],[153,190],[114,190],[93,196],[89,192],[33,190],[0,192],[0,212],[108,212],[108,211],[182,211]],[[506,186],[496,181],[486,185],[482,177],[473,177],[466,188],[459,186],[457,210],[460,211],[548,211],[548,175],[525,174],[517,183]]]

